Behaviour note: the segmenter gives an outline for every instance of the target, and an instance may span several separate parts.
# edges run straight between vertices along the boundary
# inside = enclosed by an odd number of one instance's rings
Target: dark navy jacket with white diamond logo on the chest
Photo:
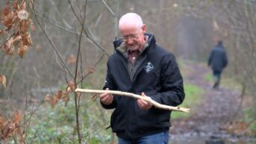
[[[184,87],[181,73],[172,53],[156,45],[152,34],[149,47],[143,51],[143,62],[137,69],[134,79],[128,73],[128,60],[116,51],[107,61],[107,78],[104,88],[150,96],[160,104],[177,106],[184,100]],[[122,40],[114,42],[115,48]],[[113,103],[102,106],[116,108],[111,116],[110,126],[122,138],[137,138],[162,131],[170,127],[170,111],[152,107],[142,110],[137,100],[127,96],[114,96]]]

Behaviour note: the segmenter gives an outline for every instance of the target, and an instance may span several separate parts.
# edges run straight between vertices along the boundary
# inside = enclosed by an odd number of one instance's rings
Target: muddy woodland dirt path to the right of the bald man
[[[207,66],[196,63],[185,63],[186,77],[184,83],[196,84],[205,90],[201,95],[202,104],[191,108],[192,116],[187,119],[172,120],[171,134],[181,137],[226,134],[224,125],[231,120],[240,104],[240,93],[220,85],[219,90],[212,89],[212,83],[205,79],[210,73]]]

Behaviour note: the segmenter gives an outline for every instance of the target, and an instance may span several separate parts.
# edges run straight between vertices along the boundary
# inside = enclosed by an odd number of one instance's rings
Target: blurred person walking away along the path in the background
[[[213,89],[219,88],[222,70],[228,65],[228,57],[225,48],[222,46],[222,41],[219,40],[217,46],[210,51],[208,66],[213,70]]]

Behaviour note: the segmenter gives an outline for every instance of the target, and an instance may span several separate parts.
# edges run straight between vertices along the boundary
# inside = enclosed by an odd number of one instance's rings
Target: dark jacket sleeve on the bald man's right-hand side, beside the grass
[[[174,55],[170,53],[164,56],[160,67],[162,90],[152,96],[152,99],[160,104],[177,106],[184,101],[185,93],[183,78]]]

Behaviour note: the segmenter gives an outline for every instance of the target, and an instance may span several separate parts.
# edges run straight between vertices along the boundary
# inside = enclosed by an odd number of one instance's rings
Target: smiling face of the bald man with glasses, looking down
[[[144,40],[144,28],[138,28],[137,25],[124,25],[120,28],[125,46],[130,51],[135,51],[143,47]]]

